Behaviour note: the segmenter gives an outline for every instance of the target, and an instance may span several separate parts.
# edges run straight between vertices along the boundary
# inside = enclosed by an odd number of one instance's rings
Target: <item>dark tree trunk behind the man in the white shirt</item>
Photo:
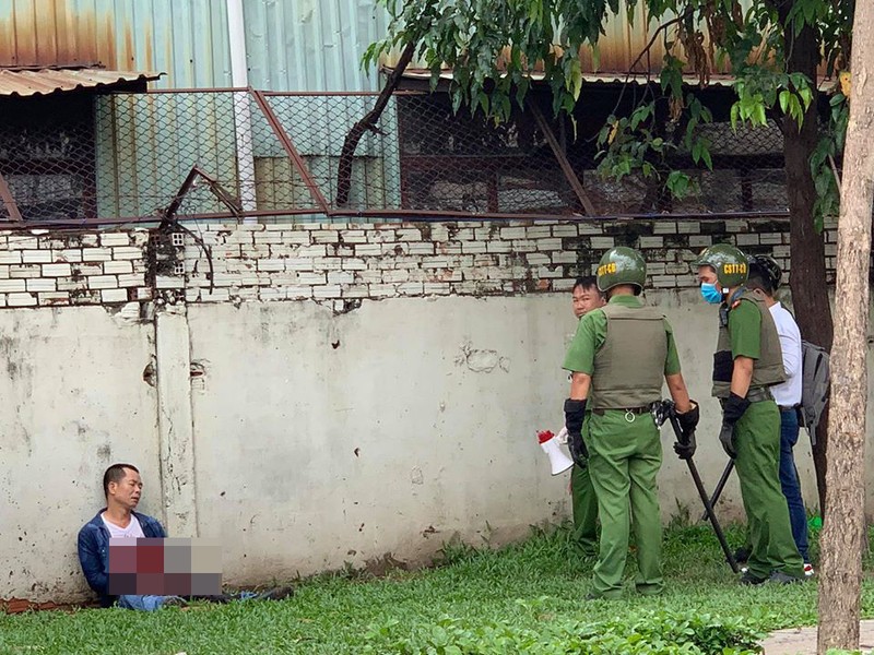
[[[791,2],[778,7],[780,20],[786,25]],[[790,73],[807,75],[816,88],[816,67],[819,62],[819,45],[811,27],[804,27],[796,38],[794,29],[786,29],[787,67]],[[811,175],[811,155],[819,139],[816,110],[816,93],[811,103],[801,129],[790,117],[783,118],[783,154],[786,156],[786,182],[789,195],[790,221],[790,270],[792,305],[802,336],[827,350],[831,348],[834,323],[828,302],[826,284],[826,257],[823,235],[816,231],[813,206],[816,202],[816,188]],[[819,511],[825,515],[826,504],[826,452],[828,436],[825,430],[827,416],[820,421],[823,429],[817,431],[813,461],[816,469],[816,486],[819,492]]]

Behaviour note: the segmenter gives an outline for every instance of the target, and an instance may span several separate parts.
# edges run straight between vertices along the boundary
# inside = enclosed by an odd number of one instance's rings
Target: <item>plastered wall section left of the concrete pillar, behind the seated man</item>
[[[75,537],[113,462],[161,513],[153,329],[103,308],[0,312],[0,598],[81,595]]]

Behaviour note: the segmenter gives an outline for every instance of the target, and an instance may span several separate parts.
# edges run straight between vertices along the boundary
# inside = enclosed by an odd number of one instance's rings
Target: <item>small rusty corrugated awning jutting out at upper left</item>
[[[76,88],[101,88],[126,82],[150,82],[163,73],[83,69],[0,69],[0,96],[47,95]]]

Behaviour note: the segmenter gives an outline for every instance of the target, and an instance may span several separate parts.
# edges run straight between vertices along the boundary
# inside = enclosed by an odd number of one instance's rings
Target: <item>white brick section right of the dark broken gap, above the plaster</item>
[[[631,245],[649,260],[649,284],[659,288],[695,284],[689,262],[705,246],[728,241],[756,247],[782,243],[784,233],[756,231],[754,221],[664,219],[635,222]],[[213,251],[216,271],[258,275],[216,275],[227,299],[297,300],[387,298],[465,294],[566,291],[578,275],[591,274],[604,250],[628,242],[630,222],[530,222],[349,224],[268,226],[256,246],[237,254]],[[704,227],[702,227],[704,226]],[[223,243],[245,242],[237,226],[211,226]],[[270,253],[257,247],[270,237]],[[275,236],[281,235],[281,239]],[[189,245],[190,246],[190,245]],[[783,248],[783,246],[778,246]],[[322,250],[326,248],[327,250]],[[198,249],[188,248],[186,270],[203,273]],[[190,261],[190,260],[194,261]],[[284,269],[283,269],[284,264]],[[201,288],[209,282],[189,277]],[[201,291],[196,301],[222,301]]]

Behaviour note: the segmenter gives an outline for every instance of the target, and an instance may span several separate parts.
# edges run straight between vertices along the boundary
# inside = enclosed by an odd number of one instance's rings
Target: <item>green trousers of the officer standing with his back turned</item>
[[[607,598],[622,594],[633,528],[637,544],[637,591],[659,594],[664,587],[662,522],[656,484],[662,463],[659,429],[649,414],[635,415],[629,422],[624,410],[607,409],[603,415],[590,415],[583,439],[589,449],[589,472],[601,520],[591,593]]]

